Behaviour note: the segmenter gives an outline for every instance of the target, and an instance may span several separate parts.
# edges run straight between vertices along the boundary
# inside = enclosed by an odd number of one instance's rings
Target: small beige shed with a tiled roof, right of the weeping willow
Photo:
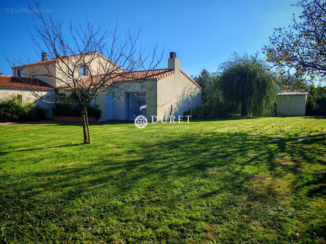
[[[277,115],[304,116],[307,95],[309,92],[303,89],[284,89],[277,93]]]

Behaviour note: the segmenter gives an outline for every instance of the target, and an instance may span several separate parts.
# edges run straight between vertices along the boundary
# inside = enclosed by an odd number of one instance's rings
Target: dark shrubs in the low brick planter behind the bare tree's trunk
[[[56,103],[52,108],[53,116],[67,116],[67,117],[80,117],[81,107],[71,106],[67,104]],[[102,110],[99,109],[98,105],[87,106],[87,116],[95,117],[99,119],[102,115]]]

